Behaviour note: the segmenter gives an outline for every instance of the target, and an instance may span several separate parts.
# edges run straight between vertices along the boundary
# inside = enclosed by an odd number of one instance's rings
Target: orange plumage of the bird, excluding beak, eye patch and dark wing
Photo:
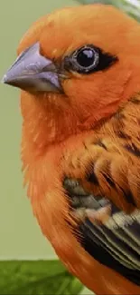
[[[62,182],[65,176],[78,179],[85,191],[107,196],[127,214],[140,209],[139,33],[140,25],[112,6],[85,5],[42,17],[18,48],[20,54],[39,42],[41,54],[56,64],[83,44],[118,57],[107,71],[70,71],[63,93],[26,90],[21,97],[24,182],[33,214],[61,261],[96,294],[139,294],[140,287],[81,246],[79,217]],[[98,185],[87,180],[91,172]]]

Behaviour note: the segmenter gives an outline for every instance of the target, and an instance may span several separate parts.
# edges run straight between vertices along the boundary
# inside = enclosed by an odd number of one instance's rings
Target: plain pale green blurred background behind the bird
[[[88,4],[98,1],[13,0],[10,2],[1,0],[0,77],[13,64],[19,40],[37,18],[56,8],[79,5],[79,2]],[[110,0],[100,2],[117,5],[124,9],[126,13],[135,16],[138,20],[140,19],[139,1]],[[56,258],[55,253],[49,242],[42,236],[39,226],[33,218],[30,202],[23,190],[20,162],[22,119],[19,109],[19,91],[0,84],[0,99],[0,261],[54,259]],[[11,271],[14,271],[13,266],[10,267]],[[6,270],[9,269],[9,265],[4,267],[4,264],[1,263],[0,271],[5,270],[5,268]],[[18,270],[21,270],[20,266],[18,268]],[[2,272],[0,275],[2,278]],[[10,277],[7,276],[6,280],[9,280],[9,283],[13,285],[15,281],[12,282],[8,279]],[[15,278],[15,280],[19,279]],[[75,281],[72,283],[75,284]],[[5,283],[3,287],[5,287]],[[0,294],[1,289],[0,285]],[[61,289],[58,294],[64,294],[63,290]],[[13,291],[11,290],[12,293]],[[12,293],[9,291],[6,294]],[[82,290],[82,293],[88,294],[89,291]]]

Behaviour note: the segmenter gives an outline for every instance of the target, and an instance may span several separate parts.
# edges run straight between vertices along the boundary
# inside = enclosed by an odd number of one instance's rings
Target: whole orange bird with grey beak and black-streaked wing
[[[64,8],[23,36],[24,183],[42,233],[96,294],[140,294],[140,25]]]

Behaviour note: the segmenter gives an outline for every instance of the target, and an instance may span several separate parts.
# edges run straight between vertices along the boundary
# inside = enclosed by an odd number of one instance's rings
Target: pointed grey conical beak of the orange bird
[[[27,48],[7,71],[2,83],[26,91],[61,92],[60,75],[55,64],[40,54],[40,44]]]

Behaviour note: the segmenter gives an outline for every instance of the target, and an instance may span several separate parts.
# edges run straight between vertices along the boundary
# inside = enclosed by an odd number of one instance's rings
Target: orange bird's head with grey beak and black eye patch
[[[51,142],[89,129],[140,91],[140,25],[110,5],[58,10],[23,36],[3,82],[23,90],[23,116],[36,110]]]

